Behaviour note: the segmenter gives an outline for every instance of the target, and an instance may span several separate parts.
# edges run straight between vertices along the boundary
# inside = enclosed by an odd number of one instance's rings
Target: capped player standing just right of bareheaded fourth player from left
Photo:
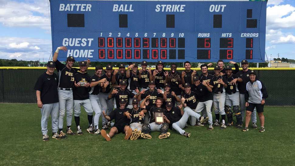
[[[110,64],[106,65],[106,73],[101,76],[101,79],[106,78],[106,81],[109,84],[106,86],[105,92],[102,92],[102,89],[100,90],[100,93],[98,96],[99,102],[101,104],[101,109],[106,112],[106,115],[109,115],[113,111],[113,99],[108,99],[109,93],[111,92],[113,88],[112,71],[113,71],[112,65]],[[105,84],[106,83],[103,83],[103,85]],[[107,130],[109,127],[108,124],[110,124],[109,121],[104,116],[102,116],[102,129]]]

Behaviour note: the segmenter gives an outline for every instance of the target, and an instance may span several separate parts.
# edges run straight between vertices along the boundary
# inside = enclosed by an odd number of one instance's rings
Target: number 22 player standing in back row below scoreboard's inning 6
[[[141,70],[139,70],[139,86],[140,91],[148,89],[148,83],[153,80],[153,75],[151,74],[151,68],[148,67],[147,61],[141,62]]]

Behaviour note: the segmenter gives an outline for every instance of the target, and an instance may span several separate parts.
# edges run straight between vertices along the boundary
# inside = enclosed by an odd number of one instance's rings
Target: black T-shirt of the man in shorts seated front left
[[[129,125],[130,119],[128,119],[127,116],[124,116],[124,112],[126,112],[126,111],[128,111],[128,108],[125,108],[125,109],[117,108],[110,113],[110,115],[109,115],[109,117],[111,118],[110,121],[115,119],[114,126]]]

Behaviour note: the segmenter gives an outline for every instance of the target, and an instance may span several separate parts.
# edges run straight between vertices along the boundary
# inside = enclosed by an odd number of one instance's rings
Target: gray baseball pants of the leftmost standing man
[[[52,133],[57,133],[58,130],[58,102],[51,104],[43,104],[41,108],[41,131],[45,135],[48,133],[47,124],[51,115]]]

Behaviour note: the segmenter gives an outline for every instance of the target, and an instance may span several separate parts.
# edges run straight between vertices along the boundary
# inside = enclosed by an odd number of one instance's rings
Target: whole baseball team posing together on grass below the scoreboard
[[[233,61],[229,64],[234,66],[224,66],[219,60],[212,72],[208,72],[211,63],[202,64],[200,75],[191,70],[189,61],[184,62],[182,72],[176,70],[176,64],[171,64],[171,71],[165,71],[162,61],[151,70],[148,62],[142,61],[141,69],[136,63],[127,70],[124,64],[114,70],[111,64],[106,65],[105,71],[97,66],[95,74],[89,76],[90,60],[78,62],[79,68],[73,68],[74,57],[67,57],[66,65],[57,60],[60,50],[67,51],[67,48],[57,47],[53,61],[47,63],[47,71],[40,75],[34,87],[41,109],[43,141],[49,140],[50,116],[54,139],[65,139],[67,134],[83,135],[83,127],[90,134],[101,134],[107,141],[118,133],[125,134],[125,140],[151,139],[154,131],[163,139],[170,136],[168,130],[190,137],[191,133],[184,130],[188,126],[206,125],[207,130],[235,126],[246,132],[250,121],[253,129],[258,128],[256,112],[261,124],[259,132],[265,131],[263,107],[268,94],[256,73],[248,68],[247,60],[241,61],[241,71]],[[54,73],[55,69],[58,74]],[[87,113],[87,127],[80,126],[81,106]],[[76,133],[71,128],[73,112]],[[160,113],[162,122],[156,120]]]

